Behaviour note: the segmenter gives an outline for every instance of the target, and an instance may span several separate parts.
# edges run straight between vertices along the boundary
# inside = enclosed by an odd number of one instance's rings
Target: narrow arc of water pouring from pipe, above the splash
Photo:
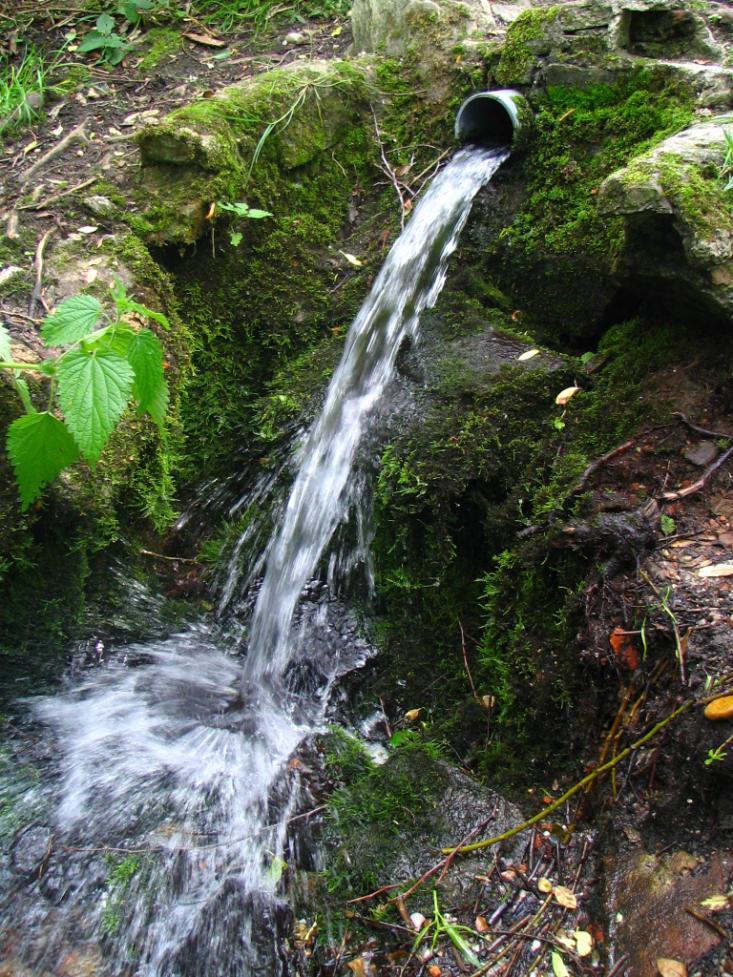
[[[503,149],[470,148],[453,157],[417,205],[349,330],[269,548],[244,666],[250,686],[264,675],[281,675],[290,660],[293,612],[345,515],[354,452],[369,413],[392,376],[400,345],[443,288],[473,198],[507,156]]]

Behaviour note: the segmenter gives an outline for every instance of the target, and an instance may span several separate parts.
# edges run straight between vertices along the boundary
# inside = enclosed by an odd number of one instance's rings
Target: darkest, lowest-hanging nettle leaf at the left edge
[[[7,450],[25,511],[44,485],[79,457],[66,427],[53,414],[25,414],[8,428]]]

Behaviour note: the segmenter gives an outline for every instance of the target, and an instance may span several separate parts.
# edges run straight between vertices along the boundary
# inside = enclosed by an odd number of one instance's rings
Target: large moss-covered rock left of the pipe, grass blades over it
[[[217,200],[267,203],[273,179],[298,170],[359,128],[366,68],[295,63],[177,109],[138,137],[142,158],[132,223],[155,244],[191,244]],[[278,176],[275,176],[275,173]]]

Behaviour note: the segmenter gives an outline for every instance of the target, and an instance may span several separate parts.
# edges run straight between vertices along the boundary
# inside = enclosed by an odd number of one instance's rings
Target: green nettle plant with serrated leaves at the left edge
[[[136,328],[129,313],[164,329],[170,328],[168,320],[129,298],[120,282],[111,291],[113,315],[105,315],[92,295],[61,302],[46,317],[41,338],[50,349],[63,351],[39,363],[14,362],[10,336],[0,325],[0,369],[11,372],[25,408],[6,437],[24,511],[80,457],[96,466],[132,400],[139,414],[149,414],[163,429],[168,409],[163,350],[155,333]],[[45,410],[34,406],[23,371],[48,378]]]

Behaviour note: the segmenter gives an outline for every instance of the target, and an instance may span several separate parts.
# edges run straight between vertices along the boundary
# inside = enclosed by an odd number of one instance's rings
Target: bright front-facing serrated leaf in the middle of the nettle
[[[72,350],[58,368],[59,402],[81,453],[96,464],[132,393],[135,374],[112,350]]]

